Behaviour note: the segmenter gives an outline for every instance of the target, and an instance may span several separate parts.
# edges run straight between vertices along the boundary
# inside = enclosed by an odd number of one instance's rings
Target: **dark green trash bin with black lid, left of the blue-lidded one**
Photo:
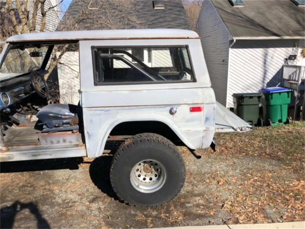
[[[233,94],[234,113],[251,125],[263,126],[260,114],[260,93]]]

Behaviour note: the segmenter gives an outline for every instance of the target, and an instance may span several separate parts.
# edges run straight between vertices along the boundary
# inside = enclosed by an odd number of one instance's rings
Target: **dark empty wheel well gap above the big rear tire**
[[[175,144],[183,145],[177,134],[165,123],[158,121],[122,122],[110,132],[110,136],[136,135],[139,133],[156,133],[166,137]]]

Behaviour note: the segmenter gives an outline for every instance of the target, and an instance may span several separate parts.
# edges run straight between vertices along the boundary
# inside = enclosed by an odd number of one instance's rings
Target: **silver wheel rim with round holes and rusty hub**
[[[166,170],[156,160],[140,161],[131,169],[130,182],[142,193],[152,193],[160,190],[166,181]]]

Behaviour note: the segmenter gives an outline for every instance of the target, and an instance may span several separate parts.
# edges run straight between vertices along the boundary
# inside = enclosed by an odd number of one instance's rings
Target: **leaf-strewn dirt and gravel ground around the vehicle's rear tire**
[[[145,228],[304,220],[304,122],[217,134],[197,160],[179,147],[186,182],[172,202],[119,202],[111,154],[1,163],[1,228]],[[108,144],[114,151],[120,142]]]

